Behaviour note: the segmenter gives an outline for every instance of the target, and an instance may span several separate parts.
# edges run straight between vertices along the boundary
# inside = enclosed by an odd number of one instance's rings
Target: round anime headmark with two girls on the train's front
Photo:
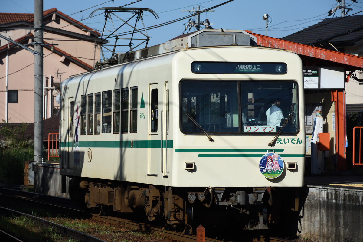
[[[284,171],[284,160],[276,153],[268,153],[260,160],[260,172],[268,179],[274,179]]]

